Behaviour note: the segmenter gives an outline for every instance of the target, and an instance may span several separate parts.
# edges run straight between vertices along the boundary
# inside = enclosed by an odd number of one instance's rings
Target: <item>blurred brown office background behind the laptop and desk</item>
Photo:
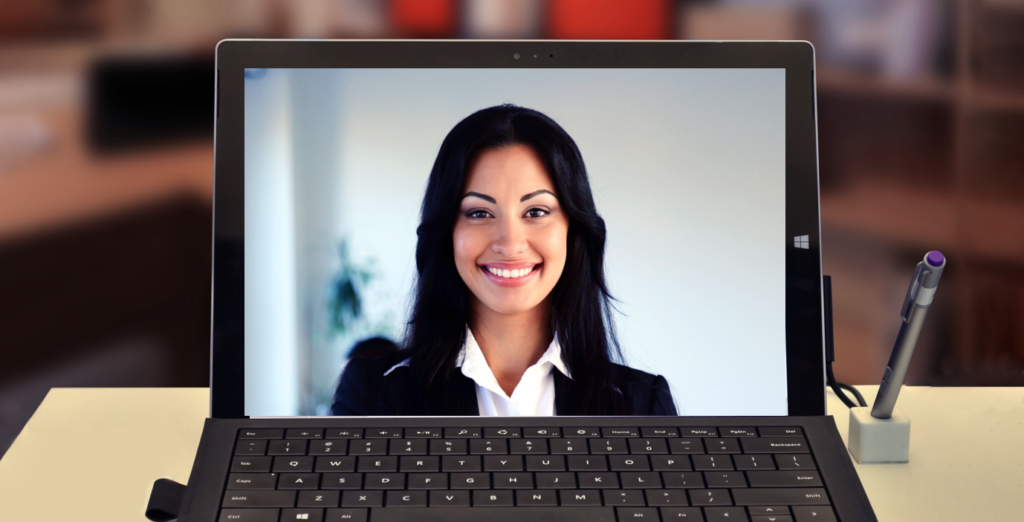
[[[213,48],[229,37],[806,39],[837,377],[1024,385],[1024,0],[0,3],[0,454],[53,386],[205,386]]]

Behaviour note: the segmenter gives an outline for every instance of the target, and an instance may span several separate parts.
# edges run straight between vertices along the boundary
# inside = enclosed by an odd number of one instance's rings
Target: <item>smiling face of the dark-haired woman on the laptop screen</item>
[[[565,267],[568,217],[534,149],[482,153],[463,190],[455,264],[476,304],[513,314],[538,306]]]

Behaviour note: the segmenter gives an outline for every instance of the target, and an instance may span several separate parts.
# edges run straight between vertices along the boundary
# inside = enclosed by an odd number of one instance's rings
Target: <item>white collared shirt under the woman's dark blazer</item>
[[[406,359],[384,373],[388,375],[399,366],[408,366]],[[522,379],[512,390],[510,397],[498,385],[498,379],[487,365],[480,345],[476,343],[473,332],[466,329],[466,345],[463,346],[456,366],[462,367],[462,375],[476,383],[476,406],[480,416],[484,417],[545,417],[555,415],[555,376],[556,368],[565,377],[570,377],[565,363],[562,362],[562,350],[557,337],[548,345],[534,365],[526,368]]]

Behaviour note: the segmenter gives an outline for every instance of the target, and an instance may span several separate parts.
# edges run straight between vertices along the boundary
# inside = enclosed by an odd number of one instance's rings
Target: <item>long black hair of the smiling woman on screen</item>
[[[485,150],[513,144],[529,146],[541,158],[568,216],[565,268],[551,293],[550,320],[574,387],[574,412],[631,415],[614,382],[612,361],[621,361],[622,353],[604,279],[605,227],[583,157],[554,120],[509,104],[459,122],[444,137],[430,171],[416,229],[419,277],[406,338],[413,378],[426,390],[415,400],[426,401],[428,410],[437,414],[456,407],[450,383],[472,310],[469,289],[456,270],[452,235],[473,161]]]

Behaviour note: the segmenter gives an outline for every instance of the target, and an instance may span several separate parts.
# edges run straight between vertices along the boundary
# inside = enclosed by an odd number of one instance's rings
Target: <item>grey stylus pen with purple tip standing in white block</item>
[[[889,356],[886,374],[882,376],[879,395],[874,397],[874,405],[871,406],[871,417],[876,419],[889,419],[893,415],[899,389],[903,386],[903,378],[906,377],[906,368],[910,365],[913,347],[918,344],[918,337],[921,336],[921,327],[925,324],[925,317],[932,306],[935,289],[939,286],[939,278],[942,277],[942,269],[945,267],[945,256],[933,250],[925,255],[925,260],[918,263],[918,267],[913,270],[910,289],[906,291],[906,299],[903,300],[903,309],[900,311],[903,323],[900,324],[899,335],[896,336],[893,354]]]

